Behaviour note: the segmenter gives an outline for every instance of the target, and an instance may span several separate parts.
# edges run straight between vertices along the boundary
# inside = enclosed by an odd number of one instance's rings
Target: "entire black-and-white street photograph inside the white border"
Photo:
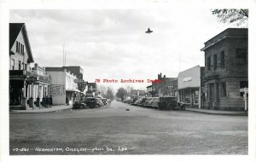
[[[248,16],[10,9],[9,155],[248,155]]]

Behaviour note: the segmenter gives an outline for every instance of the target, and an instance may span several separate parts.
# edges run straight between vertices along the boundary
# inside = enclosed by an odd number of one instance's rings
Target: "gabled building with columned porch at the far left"
[[[34,108],[49,91],[49,76],[44,69],[31,68],[34,62],[25,23],[9,24],[9,106]],[[38,64],[35,64],[38,66]],[[39,103],[39,102],[38,102]],[[38,107],[40,104],[36,104]]]

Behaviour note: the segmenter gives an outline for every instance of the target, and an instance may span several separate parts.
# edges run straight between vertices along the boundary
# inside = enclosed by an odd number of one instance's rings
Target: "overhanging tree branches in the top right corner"
[[[218,20],[223,23],[236,23],[241,26],[247,23],[248,9],[213,9],[212,14],[216,14]],[[247,26],[247,25],[246,25]]]

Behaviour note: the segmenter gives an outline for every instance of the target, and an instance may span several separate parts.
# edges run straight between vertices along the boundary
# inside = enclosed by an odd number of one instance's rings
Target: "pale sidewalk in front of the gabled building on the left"
[[[49,108],[37,107],[35,109],[27,109],[27,110],[11,110],[9,113],[49,113],[49,112],[61,112],[71,108],[72,106],[59,105],[59,106],[52,106]]]

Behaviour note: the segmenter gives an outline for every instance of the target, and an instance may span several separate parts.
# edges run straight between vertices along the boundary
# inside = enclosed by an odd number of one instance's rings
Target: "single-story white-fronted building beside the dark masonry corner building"
[[[177,88],[179,102],[183,102],[189,107],[201,108],[201,76],[204,67],[196,66],[177,76]]]

